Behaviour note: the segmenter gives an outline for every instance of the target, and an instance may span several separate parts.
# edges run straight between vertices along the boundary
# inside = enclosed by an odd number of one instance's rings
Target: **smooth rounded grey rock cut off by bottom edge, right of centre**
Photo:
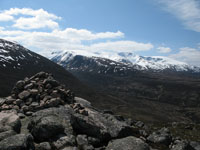
[[[106,150],[149,150],[149,146],[141,139],[129,136],[109,142]]]

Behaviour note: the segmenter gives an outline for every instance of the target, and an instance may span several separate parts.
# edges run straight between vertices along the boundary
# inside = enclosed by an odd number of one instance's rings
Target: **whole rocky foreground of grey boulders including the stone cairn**
[[[0,150],[200,150],[168,128],[97,110],[45,72],[18,81],[0,111]]]

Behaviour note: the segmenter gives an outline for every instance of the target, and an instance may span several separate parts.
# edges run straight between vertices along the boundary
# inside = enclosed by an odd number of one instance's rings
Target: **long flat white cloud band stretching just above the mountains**
[[[85,33],[85,34],[84,34]],[[6,39],[18,41],[27,47],[36,47],[43,50],[86,50],[86,51],[146,51],[153,48],[150,43],[139,43],[135,41],[110,41],[97,43],[94,40],[114,39],[123,37],[118,32],[92,33],[88,30],[67,28],[65,30],[54,30],[48,32],[28,31],[0,31],[0,35]],[[93,41],[93,44],[84,45],[83,41]]]

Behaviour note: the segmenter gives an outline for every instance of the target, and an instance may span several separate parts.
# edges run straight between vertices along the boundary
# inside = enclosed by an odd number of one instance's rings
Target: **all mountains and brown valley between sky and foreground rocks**
[[[20,44],[1,39],[0,96],[8,96],[16,81],[45,71],[95,107],[116,114],[146,122],[200,120],[198,67],[178,61],[172,65],[168,58],[131,53],[118,53],[116,57],[94,54],[57,51],[49,57],[51,61]],[[147,63],[151,68],[145,68],[141,63],[133,63],[136,58],[137,62],[152,61],[154,67],[159,63],[168,67],[153,69]]]

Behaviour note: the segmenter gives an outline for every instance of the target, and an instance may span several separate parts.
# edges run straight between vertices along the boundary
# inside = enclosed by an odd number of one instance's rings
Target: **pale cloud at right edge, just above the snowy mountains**
[[[172,54],[169,57],[177,59],[183,62],[187,62],[191,65],[200,66],[200,50],[190,47],[180,48],[180,51],[176,54]]]

